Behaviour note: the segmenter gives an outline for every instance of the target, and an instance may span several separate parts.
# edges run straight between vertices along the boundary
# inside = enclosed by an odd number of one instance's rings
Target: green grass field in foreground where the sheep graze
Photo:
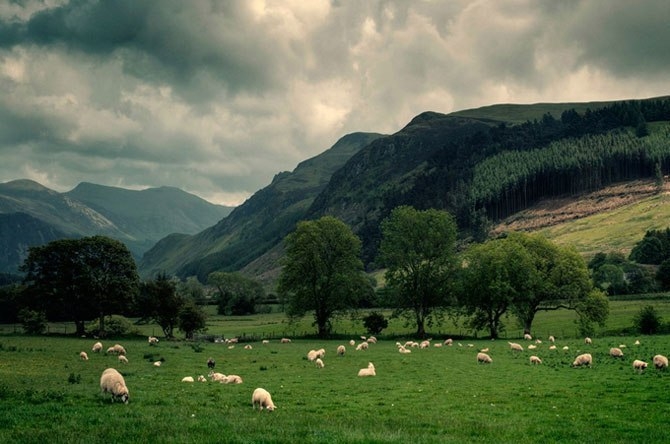
[[[628,314],[641,306],[612,304],[610,329],[628,324]],[[668,308],[662,301],[654,304]],[[636,373],[631,363],[669,355],[670,336],[596,336],[587,346],[575,335],[561,335],[572,332],[568,314],[538,318],[537,334],[545,341],[532,353],[543,359],[539,366],[529,364],[530,350],[514,354],[506,340],[459,339],[452,347],[407,355],[397,352],[398,338],[367,351],[355,351],[344,340],[274,339],[252,342],[252,350],[165,340],[151,347],[145,337],[103,341],[105,349],[115,342],[126,347],[129,363],[119,364],[114,356],[90,352],[89,338],[2,335],[0,442],[667,442],[670,372]],[[277,326],[264,321],[279,319],[275,314],[228,322],[234,329],[247,325],[254,331],[256,325],[255,331],[267,332]],[[548,349],[545,329],[557,336],[559,350]],[[413,339],[409,333],[406,338]],[[636,339],[641,345],[634,345]],[[337,357],[341,343],[348,351]],[[627,346],[624,358],[609,357],[609,348],[621,344]],[[491,365],[476,363],[477,350],[485,347]],[[323,369],[306,359],[318,348],[326,349]],[[79,359],[81,350],[89,361]],[[571,368],[584,351],[593,354],[593,367]],[[217,371],[240,375],[244,383],[180,382],[206,376],[208,357],[216,360]],[[153,366],[159,359],[163,365]],[[368,362],[377,376],[358,378]],[[127,405],[100,394],[107,367],[124,375]],[[256,387],[272,393],[275,412],[252,410]]]

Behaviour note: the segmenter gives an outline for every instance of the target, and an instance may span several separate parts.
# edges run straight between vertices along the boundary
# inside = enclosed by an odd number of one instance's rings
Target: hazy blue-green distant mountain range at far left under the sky
[[[0,272],[16,272],[28,247],[64,237],[109,236],[139,258],[168,234],[200,232],[231,210],[177,188],[131,191],[82,183],[59,193],[27,179],[1,183]]]

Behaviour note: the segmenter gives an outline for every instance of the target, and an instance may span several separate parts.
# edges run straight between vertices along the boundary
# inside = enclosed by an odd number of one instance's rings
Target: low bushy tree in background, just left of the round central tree
[[[221,315],[255,314],[256,305],[265,299],[263,285],[241,273],[215,271],[209,274],[207,283],[219,293],[217,311]]]

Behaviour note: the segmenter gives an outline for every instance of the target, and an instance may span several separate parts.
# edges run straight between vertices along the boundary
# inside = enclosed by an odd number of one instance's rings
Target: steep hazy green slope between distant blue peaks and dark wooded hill
[[[277,174],[270,185],[211,228],[194,236],[161,240],[142,258],[140,274],[147,277],[167,271],[204,280],[215,270],[244,267],[293,231],[331,175],[379,137],[374,133],[344,136],[327,151],[300,163],[293,172]]]

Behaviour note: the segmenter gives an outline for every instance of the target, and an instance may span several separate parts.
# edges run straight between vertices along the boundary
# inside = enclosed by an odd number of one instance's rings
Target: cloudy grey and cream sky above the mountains
[[[0,183],[239,205],[424,111],[670,94],[667,0],[0,0]]]

